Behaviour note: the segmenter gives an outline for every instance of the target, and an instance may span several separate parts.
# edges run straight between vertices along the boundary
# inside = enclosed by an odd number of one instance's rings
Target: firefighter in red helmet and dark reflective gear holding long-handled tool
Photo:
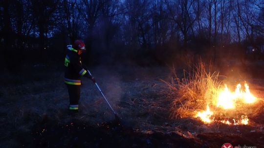
[[[81,61],[81,54],[85,51],[85,44],[82,40],[75,40],[73,45],[67,46],[65,57],[65,84],[69,93],[69,110],[78,112],[79,99],[81,93],[81,76],[88,77],[95,83],[86,69],[84,69]]]

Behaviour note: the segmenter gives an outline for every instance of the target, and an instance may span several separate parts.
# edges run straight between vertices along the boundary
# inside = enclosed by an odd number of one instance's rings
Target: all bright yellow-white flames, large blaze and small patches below
[[[257,98],[250,93],[248,84],[244,84],[244,91],[242,90],[242,85],[238,84],[236,87],[235,92],[231,92],[227,85],[225,84],[225,87],[222,91],[219,92],[219,95],[215,102],[212,102],[212,105],[216,106],[217,108],[220,108],[224,111],[234,111],[237,106],[241,105],[250,105],[254,102],[256,102]],[[220,110],[221,111],[221,110]],[[200,119],[204,123],[211,123],[214,121],[212,119],[212,115],[214,114],[214,111],[211,111],[209,108],[209,105],[207,104],[206,111],[199,111],[195,117],[200,117]],[[221,120],[221,123],[227,124],[227,125],[247,125],[249,123],[249,119],[247,116],[241,117],[239,120]]]

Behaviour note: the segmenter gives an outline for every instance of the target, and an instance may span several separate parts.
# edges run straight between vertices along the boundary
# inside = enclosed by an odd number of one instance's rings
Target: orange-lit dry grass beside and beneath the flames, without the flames
[[[184,70],[182,77],[175,74],[172,82],[163,81],[171,90],[170,95],[173,98],[171,116],[173,118],[194,116],[197,111],[206,110],[207,104],[217,117],[256,116],[262,111],[263,101],[261,99],[251,105],[239,103],[238,100],[234,110],[223,110],[216,107],[219,93],[224,85],[219,79],[219,73],[212,73],[211,65],[208,67],[206,69],[205,63],[201,61],[192,66],[189,64],[189,70]]]

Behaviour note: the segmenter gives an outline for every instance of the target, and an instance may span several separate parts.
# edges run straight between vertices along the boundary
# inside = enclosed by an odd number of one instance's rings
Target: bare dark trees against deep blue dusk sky
[[[190,53],[216,58],[234,49],[245,54],[248,46],[261,52],[264,2],[1,0],[2,53],[61,54],[75,39],[85,41],[89,57],[105,55],[102,60],[131,55],[163,60]]]

